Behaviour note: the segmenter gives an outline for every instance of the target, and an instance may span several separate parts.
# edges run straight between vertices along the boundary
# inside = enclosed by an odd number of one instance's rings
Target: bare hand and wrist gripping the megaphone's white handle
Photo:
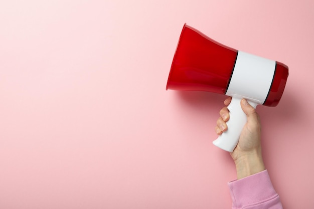
[[[224,101],[228,106],[231,97]],[[236,164],[238,179],[252,175],[265,170],[261,151],[261,129],[259,115],[255,109],[245,100],[241,100],[241,108],[247,116],[247,122],[244,125],[239,142],[233,152],[230,152],[232,159]],[[216,133],[221,135],[228,130],[226,122],[229,120],[229,110],[224,107],[219,112],[220,117],[215,127]]]

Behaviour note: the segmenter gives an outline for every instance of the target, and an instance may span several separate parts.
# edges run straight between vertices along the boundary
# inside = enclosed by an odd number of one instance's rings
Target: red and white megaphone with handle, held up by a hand
[[[283,63],[224,46],[185,24],[166,89],[231,96],[228,130],[213,144],[232,152],[246,123],[240,100],[247,99],[254,108],[257,105],[276,106],[287,77],[288,67]]]

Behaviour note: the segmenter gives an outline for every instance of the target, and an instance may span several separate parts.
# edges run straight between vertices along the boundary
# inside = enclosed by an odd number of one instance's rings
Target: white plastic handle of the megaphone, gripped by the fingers
[[[213,144],[223,150],[232,152],[237,146],[240,138],[241,131],[246,123],[246,115],[241,108],[241,96],[233,96],[231,103],[228,105],[230,119],[227,121],[228,129],[222,133]],[[247,100],[254,108],[258,102]]]

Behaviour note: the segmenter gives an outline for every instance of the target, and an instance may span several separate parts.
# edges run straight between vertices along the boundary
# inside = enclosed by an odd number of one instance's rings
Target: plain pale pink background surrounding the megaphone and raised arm
[[[284,208],[312,208],[314,2],[0,4],[0,208],[231,208],[224,95],[166,91],[184,23],[289,66],[257,107]]]

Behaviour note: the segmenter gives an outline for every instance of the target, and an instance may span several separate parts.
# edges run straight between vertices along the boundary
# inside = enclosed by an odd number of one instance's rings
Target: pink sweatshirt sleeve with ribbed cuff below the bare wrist
[[[282,209],[267,170],[228,183],[232,209]]]

